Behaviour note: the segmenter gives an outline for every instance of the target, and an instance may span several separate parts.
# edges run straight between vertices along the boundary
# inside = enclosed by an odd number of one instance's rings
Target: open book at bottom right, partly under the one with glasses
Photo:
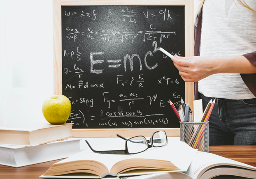
[[[211,179],[220,175],[256,179],[256,167],[198,151],[189,169],[184,173],[151,174],[129,179]]]

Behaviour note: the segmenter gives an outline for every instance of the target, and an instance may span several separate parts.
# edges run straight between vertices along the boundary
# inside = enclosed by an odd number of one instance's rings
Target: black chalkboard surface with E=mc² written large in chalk
[[[62,93],[73,129],[178,128],[184,6],[62,6]]]

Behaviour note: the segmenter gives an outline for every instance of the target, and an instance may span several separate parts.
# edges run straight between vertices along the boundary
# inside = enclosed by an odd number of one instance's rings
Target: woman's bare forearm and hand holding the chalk
[[[178,57],[173,59],[179,75],[186,82],[195,82],[216,73],[256,73],[256,67],[246,57]]]

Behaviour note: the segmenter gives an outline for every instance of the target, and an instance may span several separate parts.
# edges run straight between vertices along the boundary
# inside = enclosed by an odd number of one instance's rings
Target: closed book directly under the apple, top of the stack
[[[72,123],[21,123],[0,125],[0,145],[35,146],[72,138]]]

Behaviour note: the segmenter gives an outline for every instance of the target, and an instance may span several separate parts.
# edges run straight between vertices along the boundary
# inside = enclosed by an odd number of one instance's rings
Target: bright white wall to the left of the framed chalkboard
[[[0,0],[0,126],[45,120],[42,104],[54,95],[52,16],[52,0]]]

